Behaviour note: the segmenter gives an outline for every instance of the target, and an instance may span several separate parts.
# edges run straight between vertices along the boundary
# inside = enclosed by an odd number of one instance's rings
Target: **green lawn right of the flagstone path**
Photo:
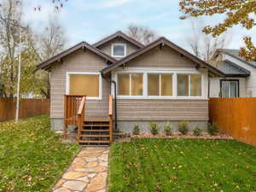
[[[256,191],[256,148],[236,141],[113,143],[109,191]]]

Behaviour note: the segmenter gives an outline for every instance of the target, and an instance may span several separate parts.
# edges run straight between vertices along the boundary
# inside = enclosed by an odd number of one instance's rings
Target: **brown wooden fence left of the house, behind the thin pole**
[[[0,122],[15,119],[16,100],[0,98]],[[28,118],[49,113],[49,99],[22,99],[20,118]]]

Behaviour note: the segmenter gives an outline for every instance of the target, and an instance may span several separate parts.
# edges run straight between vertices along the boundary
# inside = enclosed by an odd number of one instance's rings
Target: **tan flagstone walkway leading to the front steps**
[[[109,148],[84,147],[53,192],[106,192]]]

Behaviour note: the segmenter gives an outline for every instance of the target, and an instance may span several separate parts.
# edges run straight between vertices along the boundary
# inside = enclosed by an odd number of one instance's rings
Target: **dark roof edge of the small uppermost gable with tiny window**
[[[137,48],[141,49],[144,47],[143,44],[139,43],[137,40],[135,40],[134,38],[130,38],[129,36],[125,35],[124,32],[115,32],[112,35],[108,36],[107,38],[103,38],[102,40],[100,40],[99,42],[97,42],[96,44],[93,44],[92,46],[99,48],[100,46],[102,46],[102,44],[108,44],[108,42],[112,41],[114,38],[124,38],[126,41],[128,41],[130,44],[135,45]]]

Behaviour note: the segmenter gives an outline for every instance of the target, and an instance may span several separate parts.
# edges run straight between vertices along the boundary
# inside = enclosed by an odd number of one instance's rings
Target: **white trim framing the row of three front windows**
[[[117,96],[118,99],[191,99],[191,100],[208,100],[207,88],[207,72],[201,73],[195,68],[140,68],[127,67],[125,69],[118,68],[112,72],[112,79],[118,84],[119,73],[143,73],[143,96]],[[172,96],[148,96],[148,73],[172,74]],[[201,96],[177,96],[177,74],[200,74],[201,75]],[[190,86],[190,85],[189,85]],[[114,93],[112,85],[112,93]]]

